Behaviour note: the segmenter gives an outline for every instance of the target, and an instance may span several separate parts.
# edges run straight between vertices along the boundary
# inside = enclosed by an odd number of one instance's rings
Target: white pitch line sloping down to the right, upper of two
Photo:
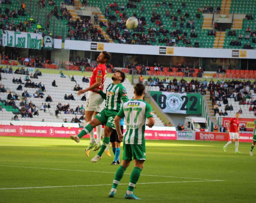
[[[105,172],[105,171],[87,171],[87,170],[70,170],[70,169],[61,169],[61,168],[38,168],[38,167],[26,167],[26,166],[5,166],[0,165],[2,167],[12,167],[12,168],[33,168],[33,169],[46,169],[46,170],[63,170],[63,171],[76,171],[76,172],[92,172],[92,173],[111,173],[115,174],[115,172]],[[125,175],[131,175],[130,173],[124,173]],[[184,179],[195,179],[195,180],[211,180],[212,179],[203,179],[203,178],[187,178],[187,177],[176,177],[176,176],[158,176],[158,175],[146,175],[141,174],[141,176],[153,176],[153,177],[165,177],[165,178],[184,178]],[[214,181],[222,181],[222,180],[214,180]]]

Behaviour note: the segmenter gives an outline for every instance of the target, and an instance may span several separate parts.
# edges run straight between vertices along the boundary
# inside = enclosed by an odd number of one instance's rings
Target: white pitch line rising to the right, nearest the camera
[[[153,183],[137,183],[137,185],[138,184],[164,184],[164,183],[218,182],[218,181],[224,181],[224,180],[153,182]],[[110,185],[112,185],[112,184],[101,184],[101,185],[62,185],[62,186],[44,186],[44,187],[10,187],[10,188],[0,188],[0,190],[41,189],[41,188],[58,188],[58,187],[90,187],[90,186],[110,186]],[[127,185],[127,183],[121,183],[119,185]]]

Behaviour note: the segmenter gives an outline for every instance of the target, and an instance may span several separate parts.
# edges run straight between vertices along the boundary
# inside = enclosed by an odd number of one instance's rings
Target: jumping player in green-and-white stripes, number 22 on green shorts
[[[113,83],[107,87],[106,93],[99,89],[93,89],[93,91],[98,92],[102,98],[106,100],[105,108],[100,113],[98,113],[78,135],[70,135],[72,140],[80,142],[80,138],[90,133],[94,127],[106,124],[102,146],[99,153],[91,159],[92,162],[97,162],[101,159],[102,154],[110,141],[110,134],[112,133],[112,129],[115,129],[114,118],[121,109],[122,103],[128,101],[127,91],[121,84],[125,80],[125,73],[120,70],[116,70],[112,76],[112,80]],[[94,144],[89,144],[86,150],[90,150],[93,145]]]

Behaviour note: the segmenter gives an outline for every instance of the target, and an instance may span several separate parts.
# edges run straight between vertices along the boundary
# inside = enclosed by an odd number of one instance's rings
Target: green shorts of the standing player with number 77
[[[144,160],[146,161],[145,144],[125,144],[123,143],[123,160]]]

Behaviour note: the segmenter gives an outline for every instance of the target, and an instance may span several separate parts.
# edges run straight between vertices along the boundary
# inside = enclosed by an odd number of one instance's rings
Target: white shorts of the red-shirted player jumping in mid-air
[[[89,91],[84,110],[101,112],[103,101],[104,99],[100,96],[100,94]]]

